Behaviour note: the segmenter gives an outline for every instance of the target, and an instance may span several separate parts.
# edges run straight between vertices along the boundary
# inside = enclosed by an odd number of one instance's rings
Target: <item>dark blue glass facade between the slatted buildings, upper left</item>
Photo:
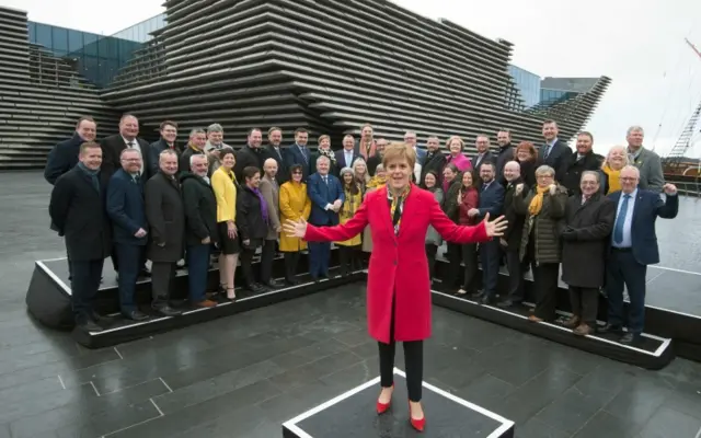
[[[78,72],[99,88],[107,87],[141,48],[139,42],[43,23],[27,22],[27,32],[30,43],[76,65]]]

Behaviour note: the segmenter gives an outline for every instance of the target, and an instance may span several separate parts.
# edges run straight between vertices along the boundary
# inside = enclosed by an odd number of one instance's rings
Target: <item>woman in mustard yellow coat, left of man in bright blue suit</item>
[[[307,196],[307,184],[302,183],[302,166],[295,164],[289,168],[290,181],[280,186],[280,223],[287,219],[309,219],[311,199]],[[285,283],[295,286],[299,253],[307,249],[307,242],[299,238],[280,233],[280,252],[285,254]]]

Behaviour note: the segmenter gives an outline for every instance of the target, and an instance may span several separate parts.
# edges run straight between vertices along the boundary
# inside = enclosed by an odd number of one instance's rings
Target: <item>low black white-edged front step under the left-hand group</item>
[[[297,286],[288,286],[263,293],[243,296],[233,302],[220,302],[215,308],[187,309],[179,316],[152,316],[142,322],[128,321],[117,316],[112,322],[113,326],[102,332],[84,332],[74,328],[73,338],[88,348],[107,347],[300,298],[321,290],[358,281],[365,276],[364,272],[353,273],[345,277],[334,274],[337,274],[337,269],[332,268],[329,279],[317,283],[312,281],[308,275],[298,276],[301,283]],[[240,296],[239,292],[237,289],[237,293]]]

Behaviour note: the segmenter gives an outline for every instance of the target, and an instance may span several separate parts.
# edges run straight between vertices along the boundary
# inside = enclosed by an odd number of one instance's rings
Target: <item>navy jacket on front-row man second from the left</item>
[[[107,215],[112,219],[115,243],[146,245],[147,235],[137,238],[139,228],[149,230],[143,205],[143,178],[135,181],[123,169],[110,178],[107,186]]]

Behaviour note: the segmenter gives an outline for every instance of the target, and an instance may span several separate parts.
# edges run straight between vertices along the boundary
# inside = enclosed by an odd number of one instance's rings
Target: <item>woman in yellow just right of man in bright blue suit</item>
[[[341,184],[343,184],[345,195],[345,201],[338,212],[338,220],[341,224],[344,224],[350,220],[360,207],[363,203],[363,192],[360,192],[360,187],[355,181],[353,169],[343,168],[338,176],[341,177]],[[358,251],[361,242],[360,234],[343,242],[336,242],[336,245],[338,245],[338,256],[341,258],[341,275],[346,276],[356,269],[360,269],[360,255]]]

